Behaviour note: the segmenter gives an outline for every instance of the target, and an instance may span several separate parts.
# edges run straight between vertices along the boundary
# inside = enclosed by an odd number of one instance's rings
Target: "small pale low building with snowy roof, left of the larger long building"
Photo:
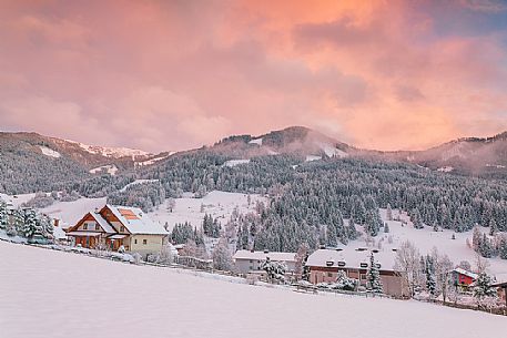
[[[249,274],[261,270],[261,263],[270,258],[272,262],[283,262],[287,266],[287,272],[293,273],[296,266],[295,253],[271,253],[254,250],[237,250],[232,257],[236,270],[241,274]]]

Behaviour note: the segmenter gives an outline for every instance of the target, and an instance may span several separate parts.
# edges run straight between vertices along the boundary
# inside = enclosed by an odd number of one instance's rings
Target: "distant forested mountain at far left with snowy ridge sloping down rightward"
[[[166,156],[90,146],[37,133],[0,133],[0,192],[51,191],[98,175],[116,175]]]

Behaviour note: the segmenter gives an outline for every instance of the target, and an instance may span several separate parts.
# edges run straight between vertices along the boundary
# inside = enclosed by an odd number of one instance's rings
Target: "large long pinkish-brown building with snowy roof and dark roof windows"
[[[354,247],[318,249],[310,255],[306,262],[306,266],[310,267],[310,281],[315,285],[335,283],[338,272],[344,272],[347,277],[357,279],[359,285],[366,286],[366,273],[372,253],[381,274],[384,294],[395,297],[408,295],[402,275],[394,268],[396,252],[393,249]]]

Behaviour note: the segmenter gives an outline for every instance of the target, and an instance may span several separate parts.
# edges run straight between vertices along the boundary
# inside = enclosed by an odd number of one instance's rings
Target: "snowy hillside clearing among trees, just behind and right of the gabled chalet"
[[[169,199],[165,201],[158,209],[148,213],[148,215],[162,225],[168,223],[169,229],[174,227],[176,223],[190,222],[193,226],[201,226],[204,214],[212,215],[219,218],[222,225],[231,218],[235,207],[241,214],[255,211],[256,201],[267,204],[267,198],[260,195],[251,194],[251,204],[249,205],[246,194],[226,193],[220,191],[210,192],[203,198],[193,198],[185,194],[182,198],[175,198],[175,207],[170,212]],[[201,213],[201,205],[204,211]]]

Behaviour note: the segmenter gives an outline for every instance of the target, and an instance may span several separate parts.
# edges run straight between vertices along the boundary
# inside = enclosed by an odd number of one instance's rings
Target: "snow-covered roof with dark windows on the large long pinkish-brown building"
[[[365,268],[369,265],[369,255],[375,257],[375,263],[381,265],[381,270],[394,270],[396,252],[392,249],[368,249],[345,246],[336,249],[318,249],[308,256],[307,266]],[[363,264],[363,266],[362,266]]]

